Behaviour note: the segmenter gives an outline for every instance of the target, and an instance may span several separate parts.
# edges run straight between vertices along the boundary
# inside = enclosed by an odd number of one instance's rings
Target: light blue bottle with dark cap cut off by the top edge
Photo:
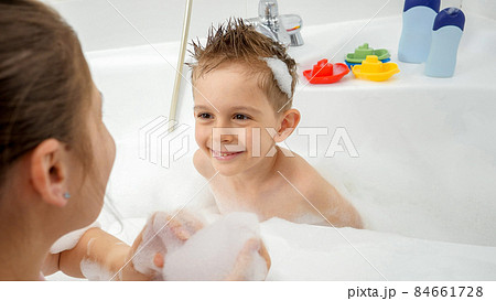
[[[399,61],[417,64],[425,62],[431,47],[432,24],[439,7],[440,0],[405,1]]]

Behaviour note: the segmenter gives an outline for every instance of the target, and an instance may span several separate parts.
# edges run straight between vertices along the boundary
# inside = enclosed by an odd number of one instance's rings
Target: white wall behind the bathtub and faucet
[[[442,7],[459,6],[462,1],[464,11],[496,18],[494,0],[442,0]],[[147,44],[145,40],[151,43],[179,41],[186,1],[44,0],[44,2],[56,8],[76,29],[85,51],[97,51]],[[304,26],[369,19],[379,10],[377,18],[399,15],[403,6],[402,0],[279,0],[278,2],[280,13],[300,14]],[[229,17],[256,17],[258,0],[193,0],[192,11],[190,37],[205,36],[212,23],[217,24]]]

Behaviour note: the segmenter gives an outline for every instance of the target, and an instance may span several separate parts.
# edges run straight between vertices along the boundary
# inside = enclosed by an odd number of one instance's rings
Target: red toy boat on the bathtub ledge
[[[303,72],[303,76],[309,79],[311,84],[332,84],[336,83],[343,76],[348,74],[348,67],[343,63],[331,64],[326,58],[323,58],[313,65],[313,69]]]

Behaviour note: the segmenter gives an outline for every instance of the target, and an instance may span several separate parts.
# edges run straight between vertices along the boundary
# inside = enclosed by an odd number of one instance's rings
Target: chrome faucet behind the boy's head
[[[258,18],[247,21],[255,25],[258,32],[280,42],[284,46],[301,46],[303,37],[300,30],[303,21],[298,14],[279,14],[277,0],[260,0]]]

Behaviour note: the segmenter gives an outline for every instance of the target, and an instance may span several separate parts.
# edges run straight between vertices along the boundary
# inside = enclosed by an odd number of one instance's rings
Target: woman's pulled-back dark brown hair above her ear
[[[90,93],[80,44],[61,15],[39,1],[0,1],[0,187],[9,166],[48,138],[89,164]]]

